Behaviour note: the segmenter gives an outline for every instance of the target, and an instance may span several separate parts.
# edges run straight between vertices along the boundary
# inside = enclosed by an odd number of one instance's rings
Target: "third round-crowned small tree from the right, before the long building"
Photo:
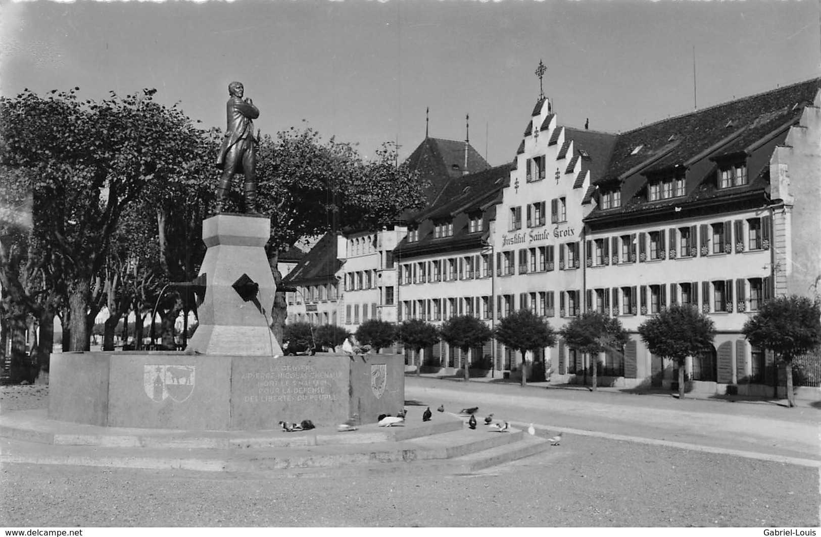
[[[596,389],[599,353],[621,352],[630,335],[615,317],[599,312],[585,312],[574,317],[559,330],[559,334],[570,348],[586,353],[593,366],[593,389]]]

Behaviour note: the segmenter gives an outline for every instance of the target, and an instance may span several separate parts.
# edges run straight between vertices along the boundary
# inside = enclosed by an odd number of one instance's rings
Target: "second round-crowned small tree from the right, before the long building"
[[[684,398],[684,365],[713,346],[716,329],[713,320],[698,308],[673,304],[639,325],[639,334],[650,353],[670,358],[678,367],[678,397]]]

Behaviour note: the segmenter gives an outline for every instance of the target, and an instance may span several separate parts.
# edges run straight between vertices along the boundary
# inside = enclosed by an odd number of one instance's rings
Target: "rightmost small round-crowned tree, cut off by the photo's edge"
[[[787,404],[796,405],[792,389],[792,361],[821,344],[821,301],[792,295],[777,297],[744,323],[741,332],[750,344],[768,348],[784,363],[787,373]]]

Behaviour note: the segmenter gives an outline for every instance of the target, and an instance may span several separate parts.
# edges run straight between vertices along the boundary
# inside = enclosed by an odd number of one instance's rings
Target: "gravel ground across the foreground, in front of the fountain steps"
[[[42,406],[43,389],[3,387],[0,404]],[[9,464],[0,491],[0,526],[11,527],[800,527],[819,526],[821,505],[815,468],[573,435],[463,476],[260,480]]]

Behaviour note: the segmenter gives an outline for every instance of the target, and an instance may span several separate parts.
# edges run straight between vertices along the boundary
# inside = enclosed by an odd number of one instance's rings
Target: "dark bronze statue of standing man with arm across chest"
[[[250,98],[242,98],[245,89],[240,82],[228,84],[227,119],[228,126],[222,139],[217,157],[217,167],[222,170],[222,178],[217,187],[217,209],[222,212],[234,173],[245,175],[245,212],[256,213],[256,145],[254,121],[259,117],[259,109]]]

